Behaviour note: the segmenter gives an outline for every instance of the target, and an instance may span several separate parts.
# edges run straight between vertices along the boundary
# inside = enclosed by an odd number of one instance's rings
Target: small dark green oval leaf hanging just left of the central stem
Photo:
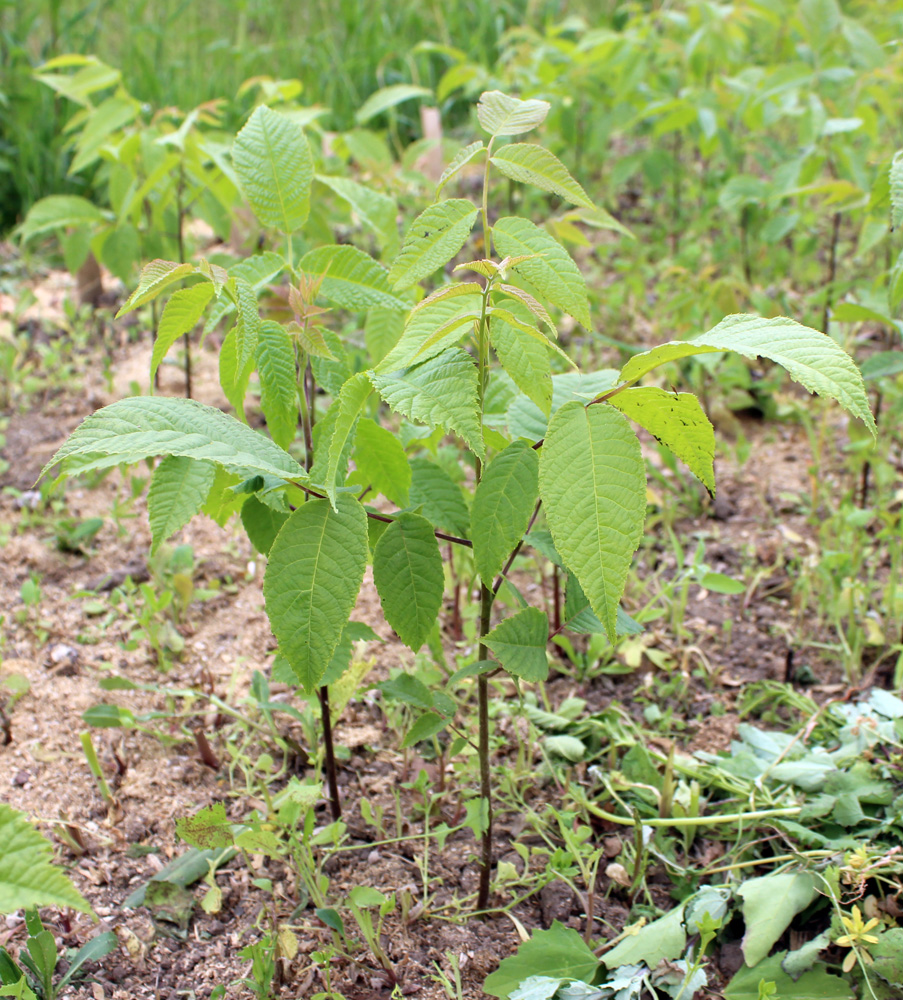
[[[373,582],[386,621],[415,653],[439,617],[444,580],[433,526],[420,514],[398,514],[373,552]]]

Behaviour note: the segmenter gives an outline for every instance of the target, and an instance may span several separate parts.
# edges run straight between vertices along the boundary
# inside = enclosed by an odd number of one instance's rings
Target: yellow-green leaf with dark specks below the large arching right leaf
[[[715,495],[715,431],[691,392],[639,386],[619,392],[609,402],[670,448]]]

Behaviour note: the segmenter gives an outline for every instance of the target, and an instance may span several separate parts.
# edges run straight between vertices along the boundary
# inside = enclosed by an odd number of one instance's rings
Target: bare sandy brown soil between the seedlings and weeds
[[[54,305],[52,297],[42,303],[41,322],[50,335],[52,313],[48,320],[47,312]],[[94,729],[93,740],[115,794],[113,807],[99,794],[79,733],[85,729],[82,713],[99,703],[120,704],[136,714],[167,709],[164,693],[102,690],[99,681],[111,673],[139,684],[197,688],[240,706],[253,671],[266,672],[272,662],[273,643],[261,593],[263,569],[260,558],[234,524],[223,529],[199,517],[182,530],[175,541],[188,543],[193,549],[195,587],[218,587],[219,592],[188,607],[179,624],[184,651],[164,674],[145,642],[131,650],[124,648],[130,638],[127,620],[108,619],[98,611],[111,575],[120,580],[126,574],[134,579],[146,576],[150,533],[144,498],[124,510],[117,523],[110,511],[117,500],[124,509],[128,496],[128,484],[118,473],[90,490],[70,484],[65,516],[76,520],[104,518],[103,527],[84,554],[60,551],[53,520],[29,510],[33,494],[28,491],[33,489],[41,466],[78,421],[128,393],[133,382],[146,389],[148,339],[127,341],[117,334],[112,345],[109,350],[116,373],[112,385],[103,377],[98,361],[102,351],[98,348],[97,353],[84,357],[80,379],[32,398],[26,408],[17,406],[8,414],[2,455],[9,468],[0,475],[0,487],[13,489],[0,493],[0,613],[5,616],[0,626],[0,676],[22,674],[30,691],[10,712],[5,738],[0,732],[0,797],[42,824],[100,920],[98,926],[84,915],[60,917],[54,930],[62,943],[78,945],[106,929],[119,936],[119,951],[94,969],[96,981],[75,988],[69,995],[95,1000],[205,998],[217,984],[228,985],[248,973],[250,963],[237,952],[259,937],[270,898],[252,885],[252,880],[272,880],[283,917],[298,905],[296,887],[284,868],[265,858],[251,859],[253,870],[241,858],[229,862],[217,875],[223,893],[221,909],[207,914],[197,907],[181,936],[172,936],[171,930],[162,921],[153,920],[145,908],[125,910],[122,904],[184,850],[175,834],[174,817],[225,801],[229,815],[238,820],[255,804],[243,793],[240,777],[230,785],[224,719],[201,707],[194,709],[192,720],[192,725],[201,726],[207,734],[222,763],[219,769],[202,762],[197,746],[181,737],[176,722],[170,724],[173,740],[168,743],[137,730]],[[213,405],[225,405],[215,364],[211,351],[203,353],[196,374],[196,396]],[[174,368],[164,369],[160,391],[181,394],[181,377]],[[839,415],[837,419],[840,421]],[[680,529],[681,537],[707,533],[710,569],[757,582],[750,582],[744,594],[734,597],[706,594],[693,585],[684,619],[687,636],[678,640],[670,635],[663,624],[666,619],[653,627],[656,645],[676,651],[674,655],[687,674],[691,694],[680,712],[685,722],[682,742],[690,749],[715,750],[729,744],[737,721],[737,697],[751,681],[790,679],[792,671],[806,666],[816,680],[810,692],[830,693],[839,687],[839,678],[819,657],[789,655],[797,622],[783,557],[788,552],[804,553],[813,544],[812,529],[793,500],[794,495],[805,495],[811,486],[805,435],[792,424],[749,422],[744,431],[751,443],[749,459],[742,468],[726,458],[719,461],[717,502],[708,504],[698,517],[681,521]],[[837,432],[842,431],[838,423]],[[656,561],[664,561],[667,568],[672,558],[664,541],[649,547],[644,550],[640,573],[653,572]],[[20,591],[32,575],[40,580],[41,599],[36,608],[28,609]],[[73,596],[79,592],[90,593]],[[384,640],[371,644],[366,652],[376,660],[368,683],[384,678],[390,667],[410,662],[410,654],[382,621],[369,581],[354,617],[371,624]],[[729,630],[725,627],[728,620]],[[704,669],[698,671],[699,667]],[[659,683],[655,667],[644,659],[631,673],[601,674],[590,680],[563,672],[550,681],[548,692],[553,702],[571,695],[583,697],[592,710],[619,701],[641,719],[632,696],[638,688],[654,691]],[[285,687],[274,685],[273,690],[278,698],[292,698]],[[715,702],[723,714],[713,714]],[[293,723],[280,722],[280,726],[285,733],[303,739]],[[500,717],[497,726],[502,736],[510,736],[511,742],[516,739],[511,719]],[[486,975],[517,947],[519,928],[547,927],[557,918],[582,930],[579,904],[560,883],[517,904],[510,916],[466,919],[466,914],[450,905],[454,897],[473,892],[476,886],[476,845],[469,831],[450,837],[445,850],[431,851],[429,877],[434,897],[424,907],[419,867],[422,842],[369,846],[373,831],[370,828],[368,832],[359,802],[366,795],[371,802],[382,802],[387,815],[394,817],[393,793],[401,783],[412,781],[420,766],[427,765],[398,751],[397,736],[387,730],[382,712],[366,694],[349,704],[336,736],[347,747],[346,759],[340,761],[339,780],[350,843],[361,849],[329,862],[330,894],[342,899],[358,884],[386,892],[408,890],[416,919],[402,922],[392,917],[385,928],[385,948],[395,963],[402,995],[423,1000],[445,997],[435,978],[436,966],[448,972],[448,954],[452,953],[462,970],[464,995],[479,997]],[[263,749],[272,747],[257,747],[253,753]],[[435,776],[435,765],[428,766]],[[304,773],[301,768],[299,775]],[[405,833],[422,829],[422,823],[413,818],[414,794],[402,789],[398,799]],[[542,795],[542,790],[537,794]],[[443,805],[443,818],[450,824],[455,820],[455,808],[453,797]],[[519,832],[515,820],[499,817],[497,860],[519,863],[508,846],[508,838]],[[60,821],[67,824],[65,836],[60,833]],[[328,822],[325,807],[322,822]],[[612,832],[600,828],[599,836]],[[598,914],[615,933],[627,920],[628,907],[617,891],[607,891],[611,888],[607,879],[602,880],[601,888],[605,891],[599,892]],[[661,902],[667,904],[666,883],[660,888]],[[196,887],[198,899],[204,891],[205,887]],[[460,919],[452,919],[456,915]],[[300,947],[282,995],[306,997],[325,988],[311,971],[307,956],[324,946],[328,931],[313,918],[311,910],[301,910],[292,926]],[[23,937],[20,916],[0,924],[0,944],[15,948]],[[333,988],[348,1000],[387,997],[389,985],[373,960],[362,958],[359,964],[336,965]],[[230,987],[228,995],[249,994],[246,988]]]

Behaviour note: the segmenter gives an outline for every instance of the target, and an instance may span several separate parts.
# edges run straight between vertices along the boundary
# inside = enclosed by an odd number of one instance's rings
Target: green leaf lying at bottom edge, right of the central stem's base
[[[536,931],[516,954],[504,959],[483,984],[483,990],[492,997],[506,1000],[530,976],[589,983],[598,969],[599,960],[583,938],[555,920],[547,931]]]

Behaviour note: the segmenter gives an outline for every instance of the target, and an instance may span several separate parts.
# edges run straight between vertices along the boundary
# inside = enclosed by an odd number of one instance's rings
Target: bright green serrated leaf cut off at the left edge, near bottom
[[[40,906],[92,912],[84,896],[53,865],[53,849],[25,814],[0,802],[0,913]]]

